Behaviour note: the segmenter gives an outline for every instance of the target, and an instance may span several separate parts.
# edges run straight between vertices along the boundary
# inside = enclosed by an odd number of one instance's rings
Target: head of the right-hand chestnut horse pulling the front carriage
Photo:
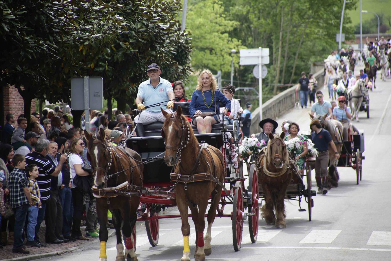
[[[182,108],[178,106],[176,112],[168,113],[161,109],[166,120],[161,128],[161,137],[165,139],[164,161],[168,166],[174,166],[181,156],[181,150],[189,146],[189,142],[195,139],[193,129],[185,116]]]

